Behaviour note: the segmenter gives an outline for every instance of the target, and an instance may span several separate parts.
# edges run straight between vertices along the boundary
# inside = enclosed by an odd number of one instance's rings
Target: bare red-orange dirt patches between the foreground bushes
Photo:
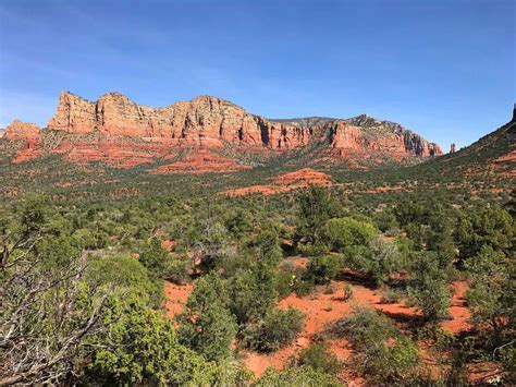
[[[306,262],[297,258],[293,261],[293,264],[303,266]],[[344,301],[342,299],[343,289],[347,283],[353,287],[353,297]],[[327,294],[324,292],[327,288],[331,288],[334,292]],[[467,290],[467,285],[466,282],[454,282],[452,283],[452,288],[455,293],[450,309],[451,319],[443,323],[443,328],[453,334],[457,334],[469,328],[467,324],[469,312],[463,299]],[[192,289],[192,285],[177,286],[167,283],[165,294],[169,301],[165,306],[169,316],[172,317],[181,312]],[[242,353],[244,364],[247,368],[253,371],[256,376],[263,374],[270,366],[281,370],[287,363],[288,359],[295,355],[299,349],[308,347],[316,334],[321,332],[328,323],[349,315],[355,305],[374,307],[385,312],[394,319],[400,321],[410,321],[411,318],[417,318],[419,315],[414,307],[408,307],[403,303],[383,304],[380,300],[381,293],[379,290],[370,289],[361,285],[353,285],[344,280],[333,280],[328,287],[317,287],[314,294],[308,297],[298,298],[295,294],[291,294],[281,300],[279,306],[282,309],[294,306],[306,314],[305,329],[299,334],[296,342],[271,354],[244,351]],[[353,352],[345,339],[331,340],[329,341],[329,347],[341,361],[348,359]],[[365,384],[363,378],[351,374],[346,367],[343,367],[340,376],[345,379],[349,386],[363,386]]]

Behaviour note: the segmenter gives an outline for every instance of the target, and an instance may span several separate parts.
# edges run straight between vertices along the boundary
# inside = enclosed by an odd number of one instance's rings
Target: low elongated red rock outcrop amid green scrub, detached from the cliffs
[[[331,176],[316,171],[311,168],[303,168],[278,177],[270,185],[251,185],[230,190],[224,193],[230,196],[244,196],[253,193],[261,193],[262,195],[269,196],[277,193],[307,188],[310,184],[331,186]]]

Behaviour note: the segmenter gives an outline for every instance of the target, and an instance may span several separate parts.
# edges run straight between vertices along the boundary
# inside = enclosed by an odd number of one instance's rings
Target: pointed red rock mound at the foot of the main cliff
[[[250,169],[250,167],[237,164],[235,160],[222,157],[208,149],[196,149],[186,155],[182,160],[160,166],[156,169],[152,169],[150,173],[171,174],[236,172],[244,169]]]

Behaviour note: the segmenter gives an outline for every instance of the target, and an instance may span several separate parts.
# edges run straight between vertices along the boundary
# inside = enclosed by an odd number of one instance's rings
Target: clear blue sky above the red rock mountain
[[[214,95],[271,118],[360,113],[445,150],[507,122],[514,0],[0,1],[0,126],[58,94],[165,106]]]

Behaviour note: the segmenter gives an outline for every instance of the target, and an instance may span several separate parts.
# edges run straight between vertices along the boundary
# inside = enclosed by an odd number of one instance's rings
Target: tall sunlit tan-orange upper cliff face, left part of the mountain
[[[48,129],[222,147],[223,143],[283,149],[304,145],[303,129],[272,123],[226,100],[200,96],[164,108],[138,106],[119,93],[89,102],[61,93]]]

